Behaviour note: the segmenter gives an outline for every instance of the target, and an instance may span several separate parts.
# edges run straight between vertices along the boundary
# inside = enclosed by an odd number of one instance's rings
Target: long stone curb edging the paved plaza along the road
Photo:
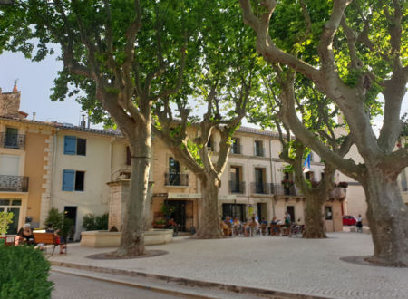
[[[92,272],[97,272],[97,273],[105,273],[105,274],[112,274],[112,275],[125,275],[125,276],[141,276],[141,277],[146,277],[146,278],[159,279],[161,281],[166,281],[167,283],[172,282],[172,283],[177,283],[179,285],[214,288],[214,289],[219,289],[221,291],[228,291],[228,292],[238,293],[238,294],[256,294],[259,296],[282,296],[282,297],[287,297],[287,298],[302,298],[302,299],[325,298],[325,297],[316,296],[316,295],[295,294],[295,293],[274,291],[274,290],[249,287],[249,286],[241,286],[241,285],[227,285],[227,284],[205,282],[205,281],[199,281],[199,280],[182,278],[182,277],[172,277],[172,276],[167,276],[167,275],[154,275],[154,274],[131,271],[131,270],[105,268],[105,267],[100,267],[100,266],[95,266],[95,265],[81,265],[81,264],[64,263],[64,262],[58,262],[58,261],[51,261],[51,264],[62,266],[62,267],[67,267],[67,268],[74,268],[78,270],[92,271]],[[207,298],[207,297],[203,297],[203,298]]]

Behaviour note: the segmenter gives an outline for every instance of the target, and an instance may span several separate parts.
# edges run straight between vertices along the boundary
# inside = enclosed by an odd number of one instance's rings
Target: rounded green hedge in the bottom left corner
[[[51,298],[50,263],[32,246],[0,245],[0,298]]]

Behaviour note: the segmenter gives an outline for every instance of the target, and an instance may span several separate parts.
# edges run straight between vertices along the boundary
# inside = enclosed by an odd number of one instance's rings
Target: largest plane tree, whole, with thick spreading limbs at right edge
[[[282,86],[282,120],[296,138],[362,184],[374,242],[370,260],[408,265],[408,209],[397,184],[398,174],[408,166],[408,148],[394,150],[402,130],[400,113],[408,80],[406,7],[397,0],[312,1],[306,6],[312,16],[306,20],[312,38],[295,44],[298,51],[294,54],[277,43],[276,37],[293,37],[296,24],[285,29],[275,22],[285,15],[286,7],[297,4],[240,0],[240,5],[264,60],[303,74],[343,113],[364,164],[340,157],[318,140],[296,115],[293,82]],[[316,54],[302,56],[308,47]],[[376,136],[371,118],[380,95],[384,97],[384,121]]]

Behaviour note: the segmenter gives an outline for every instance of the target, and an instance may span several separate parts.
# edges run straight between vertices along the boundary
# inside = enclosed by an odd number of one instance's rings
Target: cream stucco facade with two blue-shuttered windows
[[[65,154],[65,137],[86,140],[86,154]],[[112,141],[114,137],[87,130],[57,130],[53,151],[53,182],[51,206],[60,211],[75,213],[75,239],[83,230],[83,216],[92,213],[101,216],[108,212],[109,186],[112,176]],[[83,190],[63,190],[64,170],[84,173]]]

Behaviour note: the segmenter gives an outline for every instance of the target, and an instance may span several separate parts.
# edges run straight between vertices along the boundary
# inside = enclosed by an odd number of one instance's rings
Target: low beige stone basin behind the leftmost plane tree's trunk
[[[87,247],[118,247],[121,243],[121,232],[94,230],[81,233],[81,246]],[[149,229],[144,232],[144,245],[160,245],[173,240],[172,229]]]

